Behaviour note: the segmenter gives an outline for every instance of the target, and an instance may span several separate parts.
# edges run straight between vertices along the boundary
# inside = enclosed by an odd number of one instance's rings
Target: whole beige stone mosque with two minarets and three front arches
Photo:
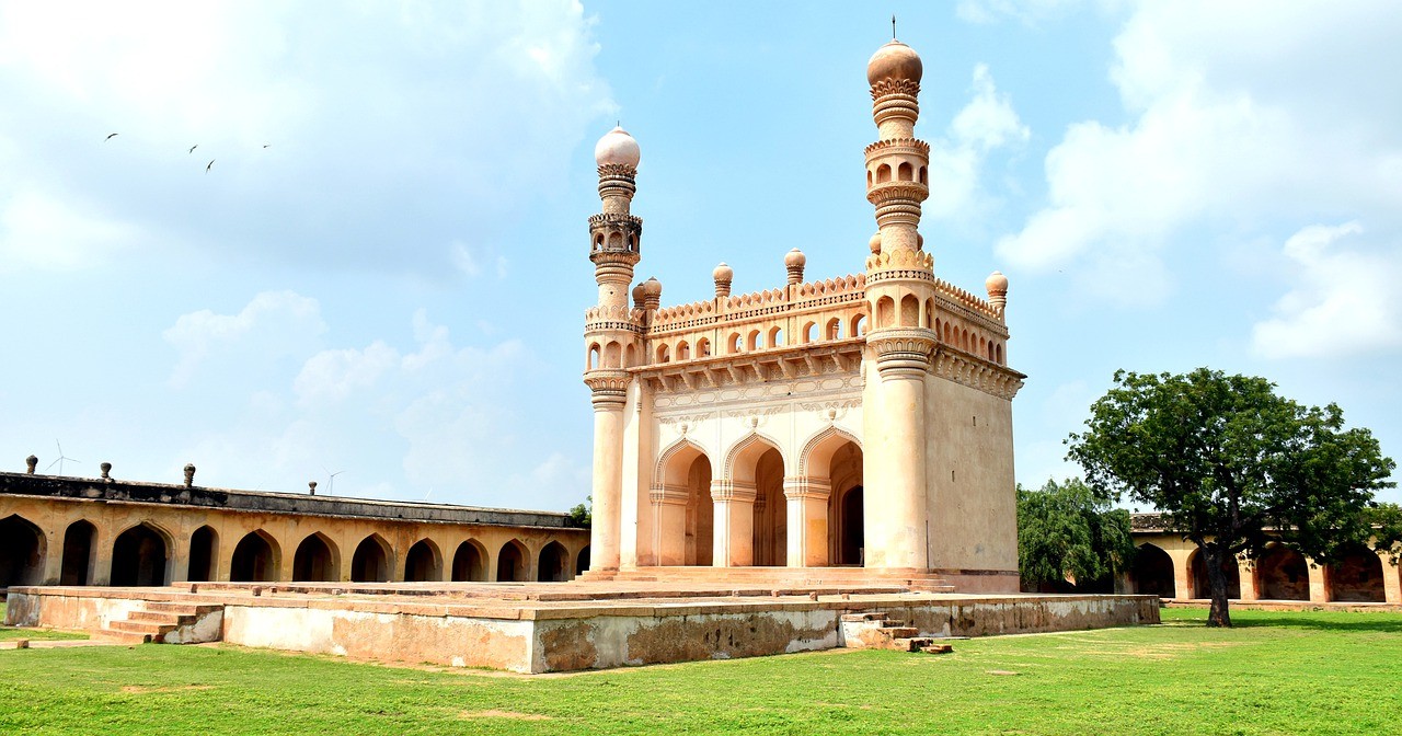
[[[876,234],[852,248],[855,275],[808,280],[794,248],[784,285],[732,294],[721,264],[715,299],[665,307],[656,279],[634,285],[639,146],[621,128],[599,140],[590,578],[859,566],[1018,589],[1012,397],[1025,376],[1008,367],[1008,280],[994,272],[983,299],[935,276],[918,231],[921,70],[899,41],[866,67]]]

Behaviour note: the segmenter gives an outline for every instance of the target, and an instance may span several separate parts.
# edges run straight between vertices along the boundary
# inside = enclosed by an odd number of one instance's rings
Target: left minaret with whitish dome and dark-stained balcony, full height
[[[585,349],[589,363],[585,384],[593,393],[594,468],[590,572],[618,569],[622,505],[624,405],[631,376],[627,356],[641,349],[641,310],[628,307],[628,285],[641,258],[642,219],[629,207],[637,192],[638,142],[614,128],[594,146],[599,164],[599,198],[603,212],[589,217],[589,259],[594,264],[599,303],[586,313]],[[648,286],[656,282],[649,282]],[[644,286],[644,293],[652,296]],[[658,285],[660,294],[662,287]],[[656,297],[646,300],[656,308]]]

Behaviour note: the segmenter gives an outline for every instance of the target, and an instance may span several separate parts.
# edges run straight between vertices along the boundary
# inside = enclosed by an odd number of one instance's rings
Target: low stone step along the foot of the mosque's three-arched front
[[[937,573],[869,568],[712,568],[651,566],[624,571],[589,571],[579,580],[635,583],[705,583],[739,587],[904,587],[927,593],[953,593],[955,586]]]

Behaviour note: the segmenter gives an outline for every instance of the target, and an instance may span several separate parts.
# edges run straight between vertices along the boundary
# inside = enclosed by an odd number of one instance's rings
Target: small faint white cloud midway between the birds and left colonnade
[[[294,292],[264,292],[238,314],[210,310],[182,314],[161,336],[178,352],[171,386],[182,387],[215,356],[240,355],[258,362],[299,355],[314,349],[315,338],[325,329],[315,299]]]

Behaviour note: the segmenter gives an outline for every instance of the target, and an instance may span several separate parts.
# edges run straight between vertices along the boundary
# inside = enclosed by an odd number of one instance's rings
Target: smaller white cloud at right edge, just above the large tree
[[[1286,241],[1298,286],[1276,303],[1274,318],[1252,329],[1258,355],[1340,359],[1402,346],[1402,264],[1345,248],[1363,234],[1357,222],[1315,224]]]

